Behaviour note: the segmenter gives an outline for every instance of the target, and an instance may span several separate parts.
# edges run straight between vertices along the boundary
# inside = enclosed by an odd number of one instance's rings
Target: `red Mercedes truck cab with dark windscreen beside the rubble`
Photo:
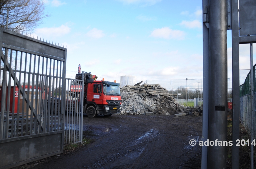
[[[93,81],[85,84],[84,91],[84,114],[86,113],[88,117],[120,113],[122,102],[119,83]]]

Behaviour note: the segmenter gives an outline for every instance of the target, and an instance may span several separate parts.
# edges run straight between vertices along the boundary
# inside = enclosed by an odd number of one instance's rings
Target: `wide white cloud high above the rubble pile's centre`
[[[164,28],[159,28],[154,30],[151,34],[151,37],[155,38],[163,38],[163,39],[184,39],[185,37],[185,32],[180,31],[180,30],[172,30],[168,27]]]

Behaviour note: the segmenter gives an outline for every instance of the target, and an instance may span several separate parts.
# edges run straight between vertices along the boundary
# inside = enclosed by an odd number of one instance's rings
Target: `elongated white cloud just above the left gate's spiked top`
[[[35,31],[35,37],[42,38],[51,38],[51,37],[60,37],[70,32],[71,28],[67,25],[61,25],[60,27],[51,27],[51,28],[37,28]]]

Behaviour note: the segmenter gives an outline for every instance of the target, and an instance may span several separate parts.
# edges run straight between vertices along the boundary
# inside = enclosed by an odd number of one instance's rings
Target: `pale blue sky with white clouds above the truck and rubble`
[[[67,46],[68,78],[75,77],[78,64],[82,71],[92,72],[99,79],[117,82],[120,75],[134,75],[137,82],[203,76],[202,1],[44,0],[44,3],[50,17],[44,19],[34,34]],[[231,76],[230,47],[229,36],[228,76]],[[198,86],[197,81],[188,83],[188,88]],[[162,86],[170,88],[168,84]],[[173,88],[180,85],[186,86],[182,81],[173,84]]]

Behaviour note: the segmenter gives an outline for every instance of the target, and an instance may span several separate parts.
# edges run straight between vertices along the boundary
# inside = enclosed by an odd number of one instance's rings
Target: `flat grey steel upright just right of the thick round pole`
[[[233,117],[232,141],[239,139],[240,87],[239,87],[239,43],[238,43],[238,0],[232,0],[232,89]],[[232,146],[232,169],[239,169],[239,146]]]

